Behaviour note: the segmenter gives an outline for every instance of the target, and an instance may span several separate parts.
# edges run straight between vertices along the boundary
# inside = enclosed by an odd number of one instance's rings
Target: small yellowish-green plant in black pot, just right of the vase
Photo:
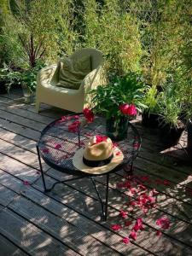
[[[144,97],[144,104],[147,108],[145,108],[142,113],[142,123],[144,126],[158,128],[160,119],[159,97],[160,94],[156,86],[148,86]]]

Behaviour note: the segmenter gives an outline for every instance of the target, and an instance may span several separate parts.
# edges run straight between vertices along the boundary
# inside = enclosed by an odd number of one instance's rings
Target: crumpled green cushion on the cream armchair
[[[90,55],[75,59],[64,57],[59,62],[57,86],[78,90],[84,77],[91,71]]]

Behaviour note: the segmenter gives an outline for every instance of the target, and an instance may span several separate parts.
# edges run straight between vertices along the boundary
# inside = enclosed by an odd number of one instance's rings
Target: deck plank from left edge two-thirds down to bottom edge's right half
[[[31,186],[24,186],[19,179],[10,176],[8,173],[0,171],[0,183],[5,184],[9,189],[14,189],[17,193],[21,193],[30,201],[44,207],[49,212],[53,212],[56,216],[65,219],[68,223],[77,226],[80,230],[84,230],[87,235],[95,237],[98,241],[102,241],[102,243],[107,244],[120,253],[128,255],[131,252],[131,255],[148,255],[146,251],[134,244],[126,247],[121,242],[122,237],[118,236],[118,234],[116,235],[113,231],[106,229],[101,224],[91,221],[90,218],[85,218],[71,208],[55,201],[49,195],[44,195]]]

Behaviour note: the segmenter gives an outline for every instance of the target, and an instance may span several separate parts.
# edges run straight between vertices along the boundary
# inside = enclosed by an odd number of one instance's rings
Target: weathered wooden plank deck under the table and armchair
[[[156,207],[142,215],[144,229],[136,241],[122,242],[142,213],[128,206],[136,195],[131,198],[129,189],[116,188],[125,180],[123,171],[110,178],[106,223],[88,179],[43,193],[36,143],[44,126],[61,115],[61,110],[46,106],[35,113],[18,90],[0,96],[0,255],[192,255],[192,167],[183,150],[162,151],[155,131],[143,129],[139,121],[143,144],[134,173],[145,177],[148,191],[155,188],[159,195]],[[44,170],[49,184],[68,177],[45,164]],[[97,177],[96,183],[103,191],[105,177]],[[125,227],[120,210],[128,211],[131,226]],[[171,227],[156,236],[156,220],[162,216],[170,219]],[[122,229],[113,231],[112,224],[122,224]]]

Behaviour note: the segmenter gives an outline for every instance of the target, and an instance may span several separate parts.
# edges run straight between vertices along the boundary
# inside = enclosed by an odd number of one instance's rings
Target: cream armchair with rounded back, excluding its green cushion
[[[57,65],[44,67],[37,76],[36,111],[39,111],[40,103],[46,103],[57,108],[63,108],[76,113],[82,112],[85,107],[91,106],[90,96],[87,92],[96,89],[103,84],[102,76],[102,52],[97,49],[80,49],[73,53],[72,57],[81,58],[84,55],[91,56],[92,71],[82,80],[79,90],[67,89],[56,86],[58,82]]]

